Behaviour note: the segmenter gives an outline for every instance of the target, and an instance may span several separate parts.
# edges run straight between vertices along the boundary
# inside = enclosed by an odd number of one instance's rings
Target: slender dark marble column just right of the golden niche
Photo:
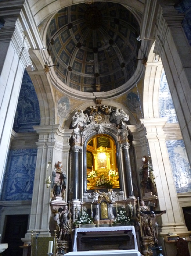
[[[130,164],[130,157],[129,157],[129,143],[128,142],[123,143],[122,146],[123,146],[124,160],[125,160],[125,171],[127,175],[128,194],[129,194],[129,198],[134,198],[131,164]]]

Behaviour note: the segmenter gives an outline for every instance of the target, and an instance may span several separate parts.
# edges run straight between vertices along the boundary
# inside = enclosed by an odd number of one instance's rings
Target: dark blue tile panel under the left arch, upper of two
[[[15,132],[31,132],[34,125],[40,125],[40,107],[31,78],[25,70],[13,129]]]

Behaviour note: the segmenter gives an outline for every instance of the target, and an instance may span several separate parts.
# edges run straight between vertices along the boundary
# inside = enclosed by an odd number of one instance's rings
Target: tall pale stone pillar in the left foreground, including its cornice
[[[28,49],[39,48],[40,37],[34,23],[31,23],[33,15],[30,7],[24,0],[1,1],[0,12],[3,21],[0,29],[1,189],[23,72],[31,64]]]

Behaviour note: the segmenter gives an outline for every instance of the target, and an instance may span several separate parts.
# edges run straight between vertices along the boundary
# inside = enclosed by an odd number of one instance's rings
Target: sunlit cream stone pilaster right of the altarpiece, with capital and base
[[[152,165],[158,193],[158,208],[166,214],[162,215],[161,234],[188,233],[183,222],[178,197],[174,185],[173,174],[169,162],[168,152],[165,143],[166,134],[163,131],[166,120],[163,118],[144,119],[144,126],[147,130]]]

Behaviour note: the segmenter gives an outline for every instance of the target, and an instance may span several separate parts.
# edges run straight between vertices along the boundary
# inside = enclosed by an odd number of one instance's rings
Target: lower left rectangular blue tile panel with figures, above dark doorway
[[[32,200],[36,157],[37,149],[10,151],[2,200]]]

